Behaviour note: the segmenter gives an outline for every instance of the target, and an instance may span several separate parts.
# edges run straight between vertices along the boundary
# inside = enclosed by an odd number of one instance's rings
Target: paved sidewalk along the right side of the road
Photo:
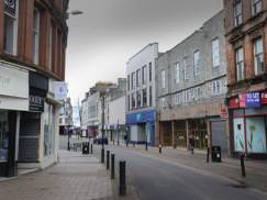
[[[126,148],[125,144],[121,144]],[[243,186],[257,188],[267,192],[267,160],[245,159],[246,178],[241,176],[241,165],[238,159],[222,158],[222,163],[207,163],[207,154],[198,152],[191,155],[190,152],[181,148],[164,147],[163,153],[158,153],[158,147],[148,147],[145,151],[144,145],[129,145],[129,149],[137,151],[142,154],[148,154],[160,159],[179,163],[188,167],[193,167],[201,170],[208,170],[218,175],[232,178]]]

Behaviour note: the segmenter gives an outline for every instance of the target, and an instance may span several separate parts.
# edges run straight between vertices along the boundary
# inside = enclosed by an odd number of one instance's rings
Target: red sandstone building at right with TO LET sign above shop
[[[266,156],[267,1],[224,0],[231,151]]]

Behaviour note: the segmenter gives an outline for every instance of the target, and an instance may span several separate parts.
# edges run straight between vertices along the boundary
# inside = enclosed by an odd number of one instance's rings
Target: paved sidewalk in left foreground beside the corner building
[[[80,152],[60,151],[57,165],[0,182],[0,200],[109,200],[113,193],[104,166]]]

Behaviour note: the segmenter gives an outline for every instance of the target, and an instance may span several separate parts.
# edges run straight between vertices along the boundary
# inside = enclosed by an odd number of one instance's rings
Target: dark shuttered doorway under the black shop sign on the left
[[[22,113],[19,162],[36,162],[38,159],[40,121],[40,113]]]

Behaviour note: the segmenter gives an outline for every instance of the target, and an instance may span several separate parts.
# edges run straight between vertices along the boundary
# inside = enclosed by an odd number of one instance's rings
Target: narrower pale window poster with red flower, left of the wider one
[[[234,119],[234,146],[235,152],[245,152],[245,127],[244,119]]]

